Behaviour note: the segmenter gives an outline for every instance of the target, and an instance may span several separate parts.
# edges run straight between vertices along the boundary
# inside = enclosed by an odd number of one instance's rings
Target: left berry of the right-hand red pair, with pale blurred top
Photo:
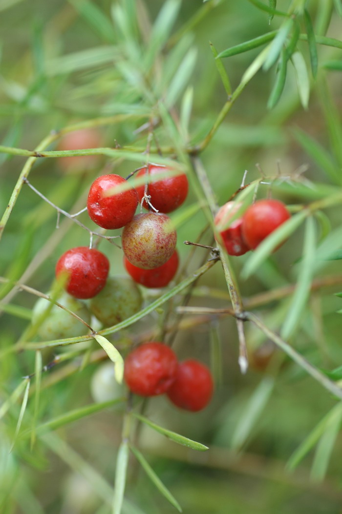
[[[242,218],[237,218],[229,224],[229,220],[236,214],[241,205],[240,203],[228,201],[219,209],[214,219],[214,225],[219,232],[219,235],[215,234],[215,240],[220,242],[219,237],[221,236],[229,255],[243,255],[249,251],[249,247],[242,237]],[[227,227],[227,225],[229,226]]]

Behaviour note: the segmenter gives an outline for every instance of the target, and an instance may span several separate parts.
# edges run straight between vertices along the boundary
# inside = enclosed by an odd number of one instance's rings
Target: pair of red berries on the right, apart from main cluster
[[[214,225],[229,255],[243,255],[249,250],[255,250],[269,234],[290,218],[289,211],[281,201],[265,199],[256,201],[242,217],[229,223],[240,208],[240,203],[228,201],[214,219]],[[228,228],[225,228],[227,225]]]

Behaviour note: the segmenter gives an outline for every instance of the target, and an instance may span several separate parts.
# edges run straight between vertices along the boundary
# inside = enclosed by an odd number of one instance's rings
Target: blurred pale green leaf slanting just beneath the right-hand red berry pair
[[[258,248],[251,254],[249,259],[246,261],[241,276],[247,279],[259,266],[267,259],[273,250],[280,245],[287,237],[289,237],[298,227],[301,225],[307,217],[308,213],[300,211],[285,223],[280,225],[272,234],[258,246]]]

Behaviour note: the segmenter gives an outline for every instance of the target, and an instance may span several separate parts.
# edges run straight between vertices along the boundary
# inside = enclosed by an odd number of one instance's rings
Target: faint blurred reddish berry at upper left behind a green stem
[[[68,132],[62,137],[57,150],[84,150],[101,146],[101,134],[95,128],[82,128],[82,130]],[[98,155],[84,155],[80,157],[60,157],[58,163],[63,171],[89,170],[96,166]]]

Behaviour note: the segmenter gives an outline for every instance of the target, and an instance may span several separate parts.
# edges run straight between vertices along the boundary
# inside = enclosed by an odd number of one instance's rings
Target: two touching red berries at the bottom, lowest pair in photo
[[[213,381],[207,366],[195,359],[177,362],[175,353],[160,342],[138,346],[125,360],[124,379],[140,396],[166,393],[181,409],[200,411],[212,396]]]

